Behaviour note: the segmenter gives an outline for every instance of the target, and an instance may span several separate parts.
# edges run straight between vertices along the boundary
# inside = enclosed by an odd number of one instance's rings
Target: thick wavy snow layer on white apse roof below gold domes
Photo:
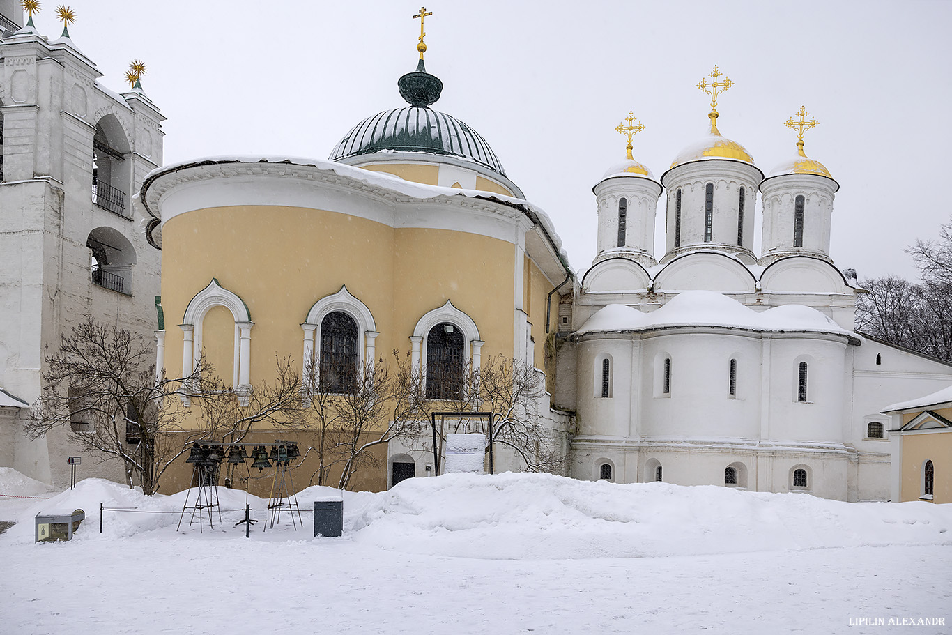
[[[733,327],[762,331],[838,333],[859,341],[816,308],[783,305],[755,311],[716,291],[684,291],[650,313],[625,305],[608,305],[592,315],[576,333],[618,332],[657,327]]]

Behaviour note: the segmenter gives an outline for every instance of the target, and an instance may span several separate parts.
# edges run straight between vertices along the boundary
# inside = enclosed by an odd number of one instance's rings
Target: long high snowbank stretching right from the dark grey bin
[[[630,558],[952,544],[952,506],[842,503],[721,486],[449,474],[407,479],[367,503],[345,519],[355,541],[444,556]]]

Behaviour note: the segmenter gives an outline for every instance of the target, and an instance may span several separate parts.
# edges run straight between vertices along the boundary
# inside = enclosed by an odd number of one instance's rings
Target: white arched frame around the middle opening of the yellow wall
[[[311,306],[301,328],[304,330],[303,372],[304,389],[307,394],[320,386],[321,324],[328,314],[335,311],[347,313],[357,323],[357,368],[373,365],[375,341],[380,334],[373,313],[363,302],[350,294],[347,285],[331,295],[326,295]]]

